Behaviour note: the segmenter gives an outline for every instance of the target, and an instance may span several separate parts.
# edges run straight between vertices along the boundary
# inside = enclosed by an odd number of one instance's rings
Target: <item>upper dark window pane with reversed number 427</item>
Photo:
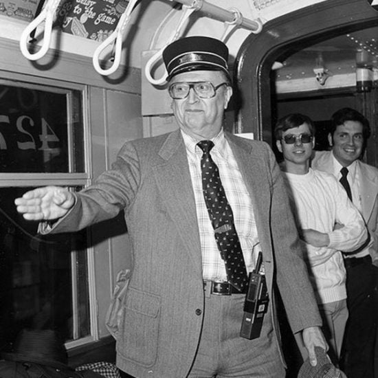
[[[83,172],[80,91],[0,80],[0,169]]]

